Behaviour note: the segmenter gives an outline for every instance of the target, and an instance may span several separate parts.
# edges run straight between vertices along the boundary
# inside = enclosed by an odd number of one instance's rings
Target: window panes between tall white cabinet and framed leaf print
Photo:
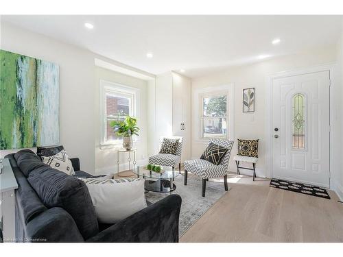
[[[227,94],[202,95],[202,138],[228,138]]]

